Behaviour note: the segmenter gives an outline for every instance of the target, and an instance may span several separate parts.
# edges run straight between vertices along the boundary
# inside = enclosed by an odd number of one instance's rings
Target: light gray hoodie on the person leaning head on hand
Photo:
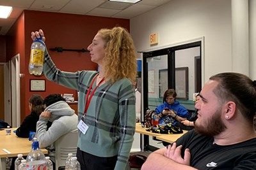
[[[77,129],[77,115],[65,101],[51,104],[45,108],[45,111],[51,111],[51,117],[47,119],[40,116],[36,123],[36,138],[40,148],[46,148],[63,134]],[[52,122],[52,125],[47,131],[48,120]]]

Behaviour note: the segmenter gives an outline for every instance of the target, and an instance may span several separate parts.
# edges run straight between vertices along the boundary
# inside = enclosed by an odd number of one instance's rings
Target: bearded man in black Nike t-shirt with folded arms
[[[200,97],[195,129],[150,153],[141,170],[256,169],[256,81],[240,73],[216,74]]]

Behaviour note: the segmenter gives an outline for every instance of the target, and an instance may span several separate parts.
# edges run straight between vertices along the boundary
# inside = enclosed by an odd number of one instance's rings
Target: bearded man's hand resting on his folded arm
[[[169,145],[167,150],[164,152],[164,157],[172,159],[173,161],[175,161],[179,164],[184,164],[184,165],[190,166],[191,155],[190,155],[189,149],[186,148],[185,153],[184,153],[184,159],[183,159],[180,154],[181,148],[182,148],[182,145],[177,147],[176,143]]]

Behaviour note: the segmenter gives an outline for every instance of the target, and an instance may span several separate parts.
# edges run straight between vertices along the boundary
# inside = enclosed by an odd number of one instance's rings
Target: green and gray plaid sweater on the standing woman
[[[85,97],[97,71],[70,73],[57,69],[45,50],[44,74],[47,79],[79,91],[78,121],[84,114]],[[95,88],[93,83],[91,92]],[[127,78],[108,81],[95,90],[85,115],[86,134],[79,131],[77,146],[98,157],[118,155],[115,170],[125,169],[135,132],[135,94]]]

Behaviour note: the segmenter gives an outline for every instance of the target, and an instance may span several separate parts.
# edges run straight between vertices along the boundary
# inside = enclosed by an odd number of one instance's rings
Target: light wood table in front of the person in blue
[[[141,127],[141,123],[136,123],[135,132],[138,132],[140,134],[146,134],[146,135],[149,135],[149,136],[154,136],[154,137],[156,137],[156,139],[159,139],[161,141],[166,141],[168,143],[173,143],[178,138],[180,138],[180,136],[182,136],[183,134],[185,134],[188,131],[183,130],[182,134],[157,134],[157,133],[146,131],[146,127]]]

